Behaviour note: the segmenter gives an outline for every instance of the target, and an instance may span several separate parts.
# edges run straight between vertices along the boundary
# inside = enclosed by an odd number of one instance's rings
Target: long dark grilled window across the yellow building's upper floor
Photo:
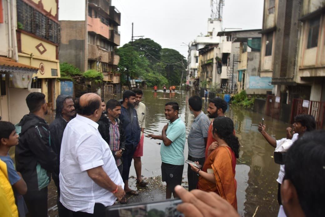
[[[17,22],[21,24],[22,30],[59,43],[60,24],[22,0],[17,0]]]

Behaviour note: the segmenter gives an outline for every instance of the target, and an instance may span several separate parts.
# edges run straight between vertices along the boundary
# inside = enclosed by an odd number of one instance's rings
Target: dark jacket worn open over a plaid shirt
[[[107,142],[107,144],[110,144],[110,121],[106,115],[106,113],[102,113],[100,116],[98,123],[98,131],[100,135],[103,137],[103,139]],[[124,148],[125,149],[125,134],[123,130],[123,124],[121,121],[118,119],[118,126],[120,130],[120,149]],[[115,156],[115,151],[111,150],[113,156]]]

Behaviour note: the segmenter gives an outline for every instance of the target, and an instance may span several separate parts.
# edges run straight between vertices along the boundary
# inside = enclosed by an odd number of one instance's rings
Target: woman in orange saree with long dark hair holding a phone
[[[237,210],[235,167],[239,141],[233,131],[234,123],[230,118],[215,118],[212,133],[216,142],[209,147],[202,170],[190,166],[200,176],[198,189],[217,193]]]

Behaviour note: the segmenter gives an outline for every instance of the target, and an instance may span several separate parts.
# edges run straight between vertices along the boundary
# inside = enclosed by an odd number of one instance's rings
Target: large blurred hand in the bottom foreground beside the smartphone
[[[177,210],[186,217],[238,217],[237,211],[214,192],[192,190],[188,192],[182,186],[175,187],[176,194],[183,200]]]

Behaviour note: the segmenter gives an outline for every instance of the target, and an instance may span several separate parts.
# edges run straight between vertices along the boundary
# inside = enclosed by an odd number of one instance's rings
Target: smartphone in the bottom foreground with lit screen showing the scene
[[[133,217],[133,216],[175,216],[184,215],[176,210],[181,199],[168,199],[150,203],[134,203],[128,205],[110,206],[106,209],[106,216]]]

